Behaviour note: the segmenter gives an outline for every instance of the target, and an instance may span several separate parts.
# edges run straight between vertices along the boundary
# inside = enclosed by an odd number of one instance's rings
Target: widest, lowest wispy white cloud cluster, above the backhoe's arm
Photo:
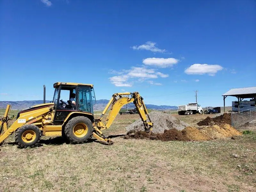
[[[111,70],[114,71],[114,70]],[[110,82],[117,87],[131,87],[134,82],[143,82],[147,79],[156,79],[158,77],[168,77],[168,74],[157,72],[156,69],[150,69],[145,67],[131,67],[129,70],[122,70],[120,74],[115,71],[118,76],[112,76],[109,78]],[[124,72],[125,71],[125,72]],[[151,81],[150,81],[151,82]],[[152,81],[153,83],[153,81]],[[160,83],[153,83],[155,85],[161,85]]]

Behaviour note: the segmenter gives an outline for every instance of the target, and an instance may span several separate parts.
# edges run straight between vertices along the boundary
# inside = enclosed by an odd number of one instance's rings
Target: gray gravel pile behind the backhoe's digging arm
[[[189,126],[183,121],[160,111],[152,111],[149,113],[151,121],[154,123],[152,132],[163,133],[165,129],[177,129],[183,130],[185,127]],[[144,131],[144,125],[141,119],[136,120],[132,124],[126,127],[126,131]]]

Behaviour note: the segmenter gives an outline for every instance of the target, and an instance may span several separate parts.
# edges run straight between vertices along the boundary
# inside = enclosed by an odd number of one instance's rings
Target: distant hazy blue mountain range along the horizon
[[[96,104],[93,106],[94,111],[101,111],[105,108],[105,106],[108,104],[109,100],[106,99],[101,99],[97,100]],[[45,101],[46,103],[49,103],[50,101]],[[43,100],[32,100],[32,101],[0,101],[0,108],[6,108],[7,104],[12,105],[12,109],[24,109],[31,107],[33,105],[39,105],[42,104]],[[148,109],[155,109],[155,110],[177,110],[177,106],[169,106],[169,105],[151,105],[151,104],[146,104],[146,107]],[[123,108],[126,108],[124,106]],[[132,109],[135,108],[133,103],[127,104],[127,108]]]

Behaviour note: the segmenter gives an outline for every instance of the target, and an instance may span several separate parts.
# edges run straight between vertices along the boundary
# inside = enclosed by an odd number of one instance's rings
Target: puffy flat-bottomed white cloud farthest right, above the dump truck
[[[215,76],[215,74],[222,70],[223,67],[220,65],[208,65],[208,64],[193,64],[185,70],[188,75],[203,75],[208,74],[210,76]]]

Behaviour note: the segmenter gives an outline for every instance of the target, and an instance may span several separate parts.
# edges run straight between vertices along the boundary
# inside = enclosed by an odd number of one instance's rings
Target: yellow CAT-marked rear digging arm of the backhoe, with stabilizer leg
[[[107,106],[103,110],[100,118],[94,120],[94,132],[93,136],[100,140],[105,144],[111,144],[110,139],[107,139],[101,132],[101,130],[108,129],[110,125],[113,123],[116,115],[118,114],[119,110],[128,103],[133,102],[137,111],[140,115],[140,118],[144,124],[144,128],[146,131],[152,131],[153,123],[150,120],[148,115],[148,110],[143,102],[143,98],[140,96],[138,92],[124,92],[124,93],[115,93],[112,95],[112,98],[109,100]],[[111,107],[110,107],[111,106]],[[108,108],[110,107],[110,111],[108,113],[108,117],[106,118],[106,123],[102,122],[103,116],[107,112]],[[147,116],[148,120],[147,121]]]

